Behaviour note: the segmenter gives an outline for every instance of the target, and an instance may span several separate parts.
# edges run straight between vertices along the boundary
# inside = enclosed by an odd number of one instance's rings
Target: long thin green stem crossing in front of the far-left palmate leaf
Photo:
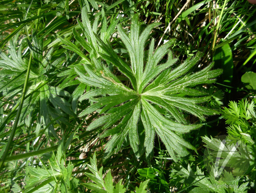
[[[12,133],[11,133],[11,135],[9,137],[7,146],[5,148],[5,152],[4,152],[3,157],[2,157],[2,159],[0,161],[0,170],[3,169],[5,159],[6,159],[7,155],[8,155],[8,153],[9,153],[10,147],[11,147],[12,142],[13,142],[14,135],[16,133],[16,129],[17,129],[17,126],[18,126],[18,122],[19,122],[22,106],[23,106],[23,103],[24,103],[24,100],[25,100],[25,95],[26,95],[26,90],[27,90],[27,83],[28,83],[30,69],[31,69],[31,63],[32,63],[32,53],[30,54],[30,58],[29,58],[29,62],[28,62],[26,79],[25,79],[24,88],[23,88],[23,91],[22,91],[22,96],[21,96],[21,100],[20,100],[19,109],[18,109],[16,118],[15,118],[15,123],[13,125]]]

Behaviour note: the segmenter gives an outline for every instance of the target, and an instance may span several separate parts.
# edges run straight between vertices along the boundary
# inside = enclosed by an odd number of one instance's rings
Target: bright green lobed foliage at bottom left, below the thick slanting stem
[[[82,192],[78,188],[79,179],[72,175],[74,165],[70,161],[66,163],[65,151],[64,143],[62,141],[57,149],[56,155],[48,155],[49,166],[42,163],[42,167],[26,167],[29,175],[26,177],[26,185],[22,192]]]

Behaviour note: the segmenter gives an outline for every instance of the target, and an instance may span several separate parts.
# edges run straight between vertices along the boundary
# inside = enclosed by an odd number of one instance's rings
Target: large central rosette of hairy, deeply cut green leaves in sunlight
[[[82,83],[94,89],[80,97],[81,101],[89,99],[91,105],[79,116],[96,111],[99,113],[99,118],[92,122],[87,130],[101,127],[104,130],[101,137],[112,136],[106,145],[106,157],[118,152],[128,137],[136,157],[146,152],[147,159],[150,159],[153,154],[155,133],[158,134],[175,161],[177,161],[177,153],[180,156],[187,155],[186,149],[194,149],[194,147],[186,142],[181,134],[197,129],[201,125],[189,124],[182,112],[186,111],[195,115],[202,121],[205,120],[204,115],[217,113],[213,109],[200,105],[209,100],[210,96],[193,87],[213,83],[214,78],[219,76],[222,70],[211,70],[213,67],[211,63],[205,69],[193,73],[192,68],[200,60],[200,53],[195,57],[189,57],[183,64],[172,69],[177,59],[172,57],[169,48],[175,40],[169,40],[155,50],[154,39],[152,39],[148,51],[145,51],[151,30],[159,23],[152,23],[141,32],[138,14],[132,18],[128,34],[120,23],[117,26],[118,34],[125,45],[125,51],[129,55],[129,60],[125,61],[112,48],[110,42],[104,39],[104,36],[97,35],[97,28],[91,27],[84,10],[82,19],[83,23],[80,22],[80,26],[84,28],[84,32],[86,31],[84,33],[86,40],[76,39],[85,49],[89,48],[87,51],[90,53],[90,60],[82,56],[81,63],[84,64],[84,71],[77,69],[77,74]],[[93,26],[97,26],[97,23],[94,22]],[[101,31],[104,33],[108,31],[104,23]],[[94,43],[96,40],[97,42]],[[101,51],[97,51],[97,54],[93,56],[91,52],[96,49],[92,48],[97,46],[99,47],[97,50]],[[163,57],[167,54],[168,58],[164,61]],[[128,77],[130,84],[123,84],[110,71],[110,68],[106,67],[105,61]],[[163,116],[160,109],[168,111],[175,121]],[[145,133],[142,136],[138,135],[140,119]],[[140,144],[143,141],[144,144]]]

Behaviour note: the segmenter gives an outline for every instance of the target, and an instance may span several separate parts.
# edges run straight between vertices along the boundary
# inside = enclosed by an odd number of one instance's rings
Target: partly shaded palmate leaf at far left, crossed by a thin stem
[[[45,129],[56,117],[65,116],[64,112],[71,116],[76,115],[65,99],[65,97],[70,97],[70,94],[52,83],[52,77],[61,69],[64,57],[60,56],[52,61],[53,49],[49,49],[46,54],[43,54],[43,41],[38,38],[36,32],[33,33],[32,42],[27,42],[33,60],[26,92],[26,96],[29,96],[25,98],[19,124],[25,121],[26,126],[29,127],[32,121],[35,121],[32,120],[32,117],[36,117],[35,114],[37,114],[36,134],[38,135],[41,127]],[[20,101],[19,96],[24,87],[25,72],[28,66],[28,60],[26,57],[22,57],[21,51],[22,46],[19,46],[18,51],[16,51],[16,46],[11,41],[8,55],[0,52],[1,71],[9,72],[1,74],[5,82],[0,95],[4,96],[6,101],[14,100],[16,104]],[[77,96],[76,98],[78,99]],[[74,107],[73,109],[75,110]],[[59,123],[63,119],[61,117],[57,122]],[[0,130],[4,128],[3,126],[2,124]],[[53,124],[48,126],[48,130],[58,138]]]

